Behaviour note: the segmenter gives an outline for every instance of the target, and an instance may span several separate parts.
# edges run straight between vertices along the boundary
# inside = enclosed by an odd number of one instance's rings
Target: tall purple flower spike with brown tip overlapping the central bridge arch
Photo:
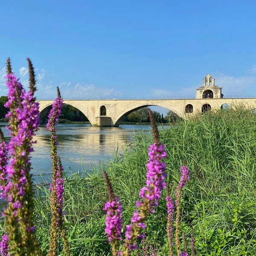
[[[162,162],[163,158],[167,157],[165,147],[160,142],[157,125],[154,122],[152,112],[148,109],[148,114],[151,120],[152,131],[154,134],[154,144],[148,148],[148,163],[146,186],[140,190],[142,201],[137,201],[139,211],[135,211],[131,218],[131,225],[126,226],[125,242],[119,255],[129,255],[132,250],[137,249],[137,239],[141,238],[140,229],[145,230],[145,220],[149,213],[155,211],[158,204],[162,189],[166,187],[164,181],[166,177],[166,164]]]

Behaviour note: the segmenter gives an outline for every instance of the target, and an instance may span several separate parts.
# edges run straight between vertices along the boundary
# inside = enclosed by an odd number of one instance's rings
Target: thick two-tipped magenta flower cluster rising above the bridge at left
[[[33,225],[34,202],[32,189],[32,175],[30,153],[35,131],[39,127],[39,105],[35,102],[35,77],[32,63],[29,62],[30,84],[29,91],[23,88],[19,79],[11,73],[10,60],[7,60],[6,85],[9,89],[9,108],[6,118],[9,119],[9,134],[11,140],[8,145],[9,165],[6,166],[6,186],[3,195],[6,195],[8,208],[4,210],[6,233],[9,238],[9,251],[18,251],[28,255],[38,251]],[[28,246],[29,244],[29,246]]]

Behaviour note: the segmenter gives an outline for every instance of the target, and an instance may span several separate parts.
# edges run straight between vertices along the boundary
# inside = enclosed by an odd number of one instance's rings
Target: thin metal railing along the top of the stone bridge
[[[256,95],[227,95],[224,99],[253,99]],[[154,100],[154,99],[195,99],[195,96],[169,96],[169,97],[91,97],[91,98],[63,98],[64,100]],[[54,98],[41,98],[38,101],[54,100]]]

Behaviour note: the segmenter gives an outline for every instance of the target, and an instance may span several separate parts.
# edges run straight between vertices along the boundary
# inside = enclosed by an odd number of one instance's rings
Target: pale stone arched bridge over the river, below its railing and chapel
[[[38,100],[41,122],[45,122],[53,100]],[[117,127],[129,113],[140,108],[160,106],[186,119],[193,114],[220,108],[243,106],[256,108],[255,98],[203,98],[203,99],[82,99],[66,100],[81,111],[93,126]]]

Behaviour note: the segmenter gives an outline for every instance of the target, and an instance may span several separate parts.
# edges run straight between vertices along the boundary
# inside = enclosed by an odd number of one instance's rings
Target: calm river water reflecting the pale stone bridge
[[[10,137],[6,129],[7,123],[0,123],[6,141]],[[113,158],[116,151],[122,151],[125,140],[133,141],[134,133],[141,130],[150,131],[149,125],[119,125],[119,127],[93,127],[87,124],[58,124],[58,155],[61,157],[65,172],[90,171],[97,165],[104,165]],[[49,180],[52,162],[50,151],[50,132],[41,125],[36,132],[32,152],[32,174],[35,182]]]

